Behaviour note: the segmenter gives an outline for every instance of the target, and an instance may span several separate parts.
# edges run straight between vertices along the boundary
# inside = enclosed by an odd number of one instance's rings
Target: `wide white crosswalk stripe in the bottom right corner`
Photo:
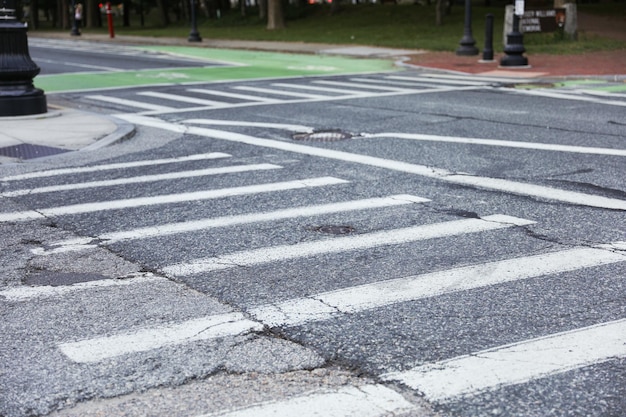
[[[382,375],[446,402],[626,356],[626,319]]]

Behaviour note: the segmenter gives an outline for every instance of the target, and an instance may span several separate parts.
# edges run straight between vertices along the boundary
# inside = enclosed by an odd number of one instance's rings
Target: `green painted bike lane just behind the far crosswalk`
[[[207,66],[40,75],[34,80],[35,86],[46,93],[58,93],[263,78],[362,74],[397,69],[392,59],[163,45],[132,48],[194,58],[206,61]]]

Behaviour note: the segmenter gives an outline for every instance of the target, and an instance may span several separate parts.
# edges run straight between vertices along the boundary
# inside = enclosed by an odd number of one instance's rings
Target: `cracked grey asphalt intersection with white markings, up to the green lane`
[[[138,134],[0,167],[0,414],[623,415],[626,100],[511,84],[54,95]]]

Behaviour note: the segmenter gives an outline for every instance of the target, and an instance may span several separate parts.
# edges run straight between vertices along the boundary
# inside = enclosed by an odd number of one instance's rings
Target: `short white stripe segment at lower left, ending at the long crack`
[[[225,313],[113,336],[61,343],[58,347],[74,362],[93,363],[128,353],[261,330],[263,326],[260,323],[246,319],[241,313]]]

